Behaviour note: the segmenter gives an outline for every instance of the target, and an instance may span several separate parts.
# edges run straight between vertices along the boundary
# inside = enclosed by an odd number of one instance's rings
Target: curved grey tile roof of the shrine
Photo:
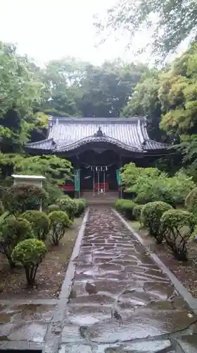
[[[130,151],[161,150],[163,143],[148,137],[145,117],[49,119],[46,140],[27,143],[27,148],[63,152],[87,143],[108,142]]]

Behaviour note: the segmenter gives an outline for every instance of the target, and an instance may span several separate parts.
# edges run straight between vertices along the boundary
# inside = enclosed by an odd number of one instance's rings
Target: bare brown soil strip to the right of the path
[[[139,229],[139,222],[129,222],[129,225],[138,232],[144,239],[147,246],[157,253],[161,261],[165,263],[180,282],[189,290],[193,297],[197,298],[197,242],[189,241],[187,249],[189,261],[180,262],[174,259],[170,249],[165,244],[157,245],[152,237],[149,237],[146,230]]]

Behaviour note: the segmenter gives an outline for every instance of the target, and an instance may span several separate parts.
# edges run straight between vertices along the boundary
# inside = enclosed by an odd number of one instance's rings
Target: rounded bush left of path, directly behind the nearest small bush
[[[49,233],[50,220],[44,212],[36,210],[26,211],[21,217],[31,223],[34,236],[37,239],[42,241],[46,240],[47,234]]]

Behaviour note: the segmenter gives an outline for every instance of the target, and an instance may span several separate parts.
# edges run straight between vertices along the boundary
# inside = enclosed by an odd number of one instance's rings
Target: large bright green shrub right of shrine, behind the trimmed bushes
[[[170,205],[183,205],[186,195],[195,184],[183,172],[168,177],[157,168],[136,167],[134,163],[122,168],[122,181],[125,189],[134,192],[136,203],[145,204],[163,201]]]

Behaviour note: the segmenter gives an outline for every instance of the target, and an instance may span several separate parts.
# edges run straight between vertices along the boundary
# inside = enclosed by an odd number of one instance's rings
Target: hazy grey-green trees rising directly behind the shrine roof
[[[70,58],[50,61],[42,75],[49,93],[41,109],[53,116],[120,116],[144,71],[143,65],[119,60],[102,66]]]

